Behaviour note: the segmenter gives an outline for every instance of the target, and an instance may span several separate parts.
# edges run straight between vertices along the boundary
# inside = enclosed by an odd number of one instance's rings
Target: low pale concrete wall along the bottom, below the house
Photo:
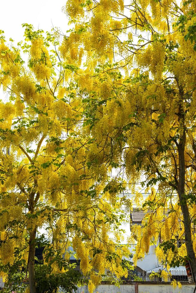
[[[97,287],[94,293],[193,293],[195,285],[182,282],[182,289],[174,289],[170,283],[158,282],[127,282],[120,288],[103,283]],[[88,286],[78,288],[77,293],[88,293]]]

